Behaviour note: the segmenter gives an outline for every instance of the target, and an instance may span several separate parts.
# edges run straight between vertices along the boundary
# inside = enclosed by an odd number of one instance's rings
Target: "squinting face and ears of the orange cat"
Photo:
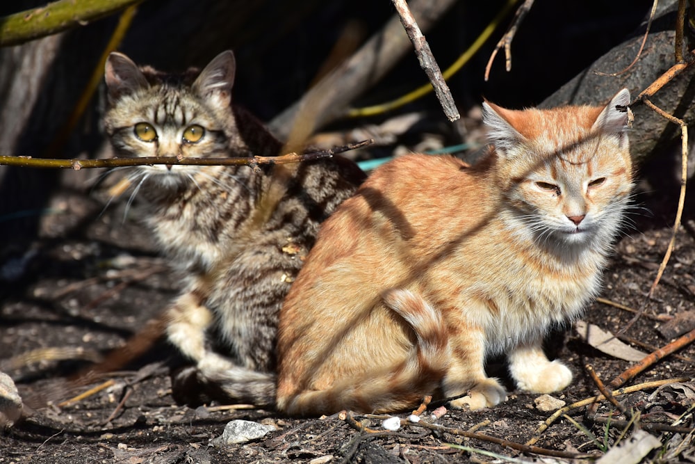
[[[629,103],[628,95],[616,99]],[[501,159],[498,182],[513,220],[525,226],[519,232],[561,247],[608,246],[632,180],[628,138],[612,127],[623,124],[614,120],[616,111],[512,111],[491,104],[485,110]]]

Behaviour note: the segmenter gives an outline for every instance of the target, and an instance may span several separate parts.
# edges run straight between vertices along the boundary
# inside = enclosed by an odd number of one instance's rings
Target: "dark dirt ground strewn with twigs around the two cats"
[[[669,180],[670,170],[657,174],[644,167],[643,173],[651,179],[639,183],[637,207],[630,214],[634,228],[626,231],[618,243],[605,273],[602,296],[644,313],[633,321],[632,312],[596,302],[588,308],[584,321],[620,333],[624,342],[649,353],[677,337],[660,333],[669,319],[695,312],[695,208],[689,200],[684,227],[678,232],[662,283],[654,298],[646,298],[670,239],[677,184]],[[512,385],[508,385],[509,399],[496,408],[474,413],[447,410],[434,418],[432,412],[441,404],[431,405],[421,422],[439,424],[439,430],[410,423],[398,431],[386,431],[382,418],[356,417],[362,426],[377,431],[369,433],[358,431],[355,424],[337,415],[293,419],[272,410],[179,406],[172,399],[167,368],[171,349],[163,342],[130,365],[130,370],[93,384],[111,379],[111,387],[60,405],[93,386],[70,387],[64,380],[67,376],[121,346],[165,307],[177,289],[176,275],[158,257],[149,234],[138,222],[137,205],[124,216],[124,202],[104,209],[102,195],[83,190],[67,186],[61,189],[44,214],[40,237],[28,252],[0,263],[0,371],[17,383],[28,415],[12,429],[0,432],[0,463],[502,462],[481,454],[488,451],[523,461],[541,458],[541,454],[516,451],[460,433],[475,426],[477,433],[509,442],[523,444],[530,440],[553,410],[544,412],[535,401],[538,395],[515,391]],[[670,325],[680,331],[693,328],[685,322]],[[555,334],[548,346],[575,374],[571,387],[553,395],[567,405],[596,395],[596,383],[587,365],[609,383],[634,364],[599,351],[572,328]],[[43,359],[21,356],[47,348],[65,349],[62,357],[67,359],[45,360],[46,352]],[[22,365],[15,363],[17,358],[13,357],[18,355],[24,360]],[[643,428],[662,443],[645,462],[694,463],[695,447],[689,442],[693,434],[686,433],[695,422],[694,359],[695,346],[690,344],[626,385],[681,377],[689,377],[690,381],[639,387],[636,392],[618,397],[626,413],[607,401],[600,402],[594,419],[585,417],[585,407],[569,410],[569,418],[553,422],[539,434],[535,445],[574,456],[600,456],[601,447],[627,442],[621,436],[626,429],[629,436]],[[496,362],[491,362],[489,371],[505,376],[504,367]],[[49,406],[45,406],[46,401],[50,401]],[[407,415],[400,417],[405,419]],[[610,426],[605,424],[607,417]],[[220,436],[232,419],[261,422],[276,430],[243,445],[213,445],[211,440]],[[631,419],[635,422],[630,426],[621,422]],[[685,430],[660,431],[659,426]],[[598,443],[587,432],[593,433]],[[568,460],[562,456],[544,459]]]

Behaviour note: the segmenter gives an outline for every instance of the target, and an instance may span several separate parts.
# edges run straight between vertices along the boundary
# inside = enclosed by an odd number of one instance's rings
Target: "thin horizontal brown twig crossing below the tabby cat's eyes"
[[[179,158],[179,157],[142,157],[111,159],[41,159],[31,157],[0,156],[0,165],[22,166],[23,168],[62,168],[80,170],[82,168],[117,168],[121,166],[152,166],[153,164],[186,166],[258,166],[259,164],[288,164],[316,159],[330,158],[334,154],[365,147],[373,143],[372,139],[359,143],[348,143],[329,150],[319,150],[304,154],[288,153],[279,157],[243,157],[243,158]]]

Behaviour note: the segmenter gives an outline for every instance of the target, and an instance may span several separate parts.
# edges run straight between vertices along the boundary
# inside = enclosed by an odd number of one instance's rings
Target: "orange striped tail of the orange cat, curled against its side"
[[[279,410],[288,415],[321,415],[343,409],[389,413],[417,406],[425,395],[439,388],[450,363],[448,333],[441,313],[409,290],[391,289],[382,297],[386,306],[414,330],[416,346],[408,358],[389,369],[338,381],[327,390],[286,394],[280,386]]]

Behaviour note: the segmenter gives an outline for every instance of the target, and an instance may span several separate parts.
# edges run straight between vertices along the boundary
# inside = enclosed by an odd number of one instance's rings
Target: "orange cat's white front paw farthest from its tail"
[[[557,392],[572,381],[569,367],[558,360],[548,360],[540,339],[517,346],[508,358],[509,374],[512,374],[519,389],[526,392]]]

